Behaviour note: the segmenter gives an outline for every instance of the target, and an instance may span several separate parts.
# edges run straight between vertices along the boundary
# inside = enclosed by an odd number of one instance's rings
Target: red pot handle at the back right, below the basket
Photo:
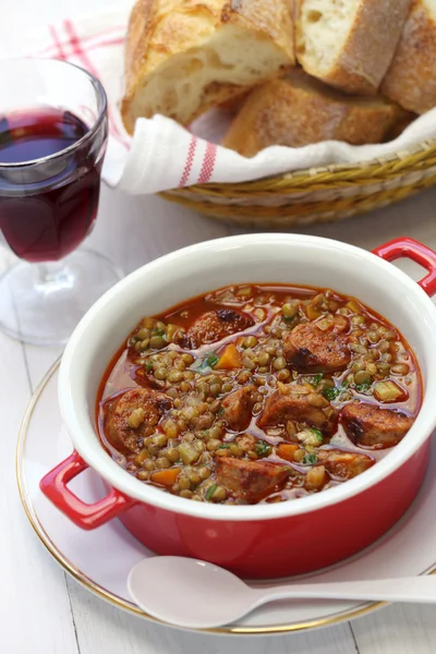
[[[426,245],[414,239],[403,237],[376,247],[373,250],[373,254],[376,254],[386,262],[393,262],[402,257],[416,262],[416,264],[428,270],[428,275],[417,282],[419,286],[429,296],[436,293],[436,252],[433,252]]]

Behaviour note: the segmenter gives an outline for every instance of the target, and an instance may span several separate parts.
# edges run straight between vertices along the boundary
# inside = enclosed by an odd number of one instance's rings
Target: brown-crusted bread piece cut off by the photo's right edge
[[[414,0],[382,89],[415,113],[436,107],[436,0]]]

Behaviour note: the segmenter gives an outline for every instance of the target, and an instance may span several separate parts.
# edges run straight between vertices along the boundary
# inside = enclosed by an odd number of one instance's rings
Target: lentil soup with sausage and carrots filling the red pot
[[[276,502],[364,473],[405,436],[421,399],[410,347],[359,300],[242,284],[143,318],[101,382],[97,421],[142,483]]]

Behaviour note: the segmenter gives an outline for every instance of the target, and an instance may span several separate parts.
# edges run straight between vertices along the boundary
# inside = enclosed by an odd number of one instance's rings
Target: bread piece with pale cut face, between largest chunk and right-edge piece
[[[299,0],[296,57],[311,75],[374,95],[393,58],[412,0]]]

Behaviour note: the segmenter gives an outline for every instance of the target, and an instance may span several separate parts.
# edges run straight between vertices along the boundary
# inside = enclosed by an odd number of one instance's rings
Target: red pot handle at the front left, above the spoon
[[[43,477],[39,487],[72,522],[82,529],[92,530],[117,518],[136,502],[117,488],[112,488],[109,495],[90,505],[80,499],[69,489],[68,483],[88,468],[89,465],[74,450],[70,457]]]

